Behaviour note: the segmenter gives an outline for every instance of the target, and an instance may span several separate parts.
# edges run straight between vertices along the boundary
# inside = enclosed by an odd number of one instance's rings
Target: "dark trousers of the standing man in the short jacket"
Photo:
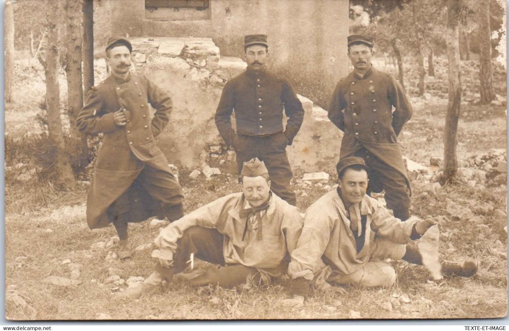
[[[288,139],[282,132],[266,136],[237,135],[234,143],[238,174],[244,162],[258,158],[265,162],[269,171],[272,192],[291,205],[296,205],[297,198],[290,189],[293,174],[286,153],[287,146]]]

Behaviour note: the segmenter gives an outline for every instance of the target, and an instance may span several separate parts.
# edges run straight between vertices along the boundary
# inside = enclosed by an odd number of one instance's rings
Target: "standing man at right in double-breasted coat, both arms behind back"
[[[385,190],[387,207],[402,221],[410,218],[410,182],[397,137],[412,116],[412,106],[392,75],[371,65],[374,38],[348,37],[354,71],[334,90],[328,117],[345,133],[340,159],[355,156],[370,167],[367,194]]]

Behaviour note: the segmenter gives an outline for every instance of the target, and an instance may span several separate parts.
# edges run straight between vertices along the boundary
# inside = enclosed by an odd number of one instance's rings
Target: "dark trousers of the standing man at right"
[[[367,186],[367,194],[385,190],[385,202],[387,208],[392,209],[394,217],[402,221],[410,218],[410,190],[405,177],[394,168],[379,160],[365,148],[355,153],[356,157],[364,160],[370,167],[370,183]],[[381,186],[381,187],[380,187]]]

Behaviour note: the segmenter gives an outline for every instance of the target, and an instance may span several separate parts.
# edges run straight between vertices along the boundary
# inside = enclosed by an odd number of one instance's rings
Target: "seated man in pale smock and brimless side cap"
[[[269,283],[286,273],[289,253],[297,245],[302,215],[270,191],[265,164],[257,158],[244,162],[242,192],[219,198],[169,224],[155,239],[160,250],[155,271],[142,284],[117,297],[138,298],[171,281],[188,265],[190,255],[217,264],[186,280],[193,286],[224,288],[248,278]]]

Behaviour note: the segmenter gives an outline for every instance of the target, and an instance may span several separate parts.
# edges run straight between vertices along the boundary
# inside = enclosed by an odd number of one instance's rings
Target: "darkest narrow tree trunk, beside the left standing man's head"
[[[94,0],[83,1],[83,95],[94,86]]]

